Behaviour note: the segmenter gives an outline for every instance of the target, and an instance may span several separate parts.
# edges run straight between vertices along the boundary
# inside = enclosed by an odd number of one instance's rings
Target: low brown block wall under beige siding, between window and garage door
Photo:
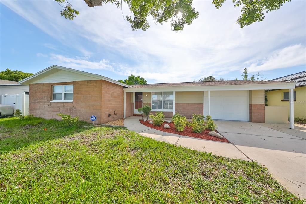
[[[193,113],[203,115],[203,104],[175,103],[175,112],[186,118],[192,118]]]

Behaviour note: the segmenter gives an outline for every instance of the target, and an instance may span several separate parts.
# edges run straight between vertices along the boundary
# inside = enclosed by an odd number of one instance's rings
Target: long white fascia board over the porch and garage
[[[152,91],[232,91],[232,90],[268,90],[268,89],[293,89],[296,82],[248,85],[214,85],[214,86],[172,86],[125,88],[124,92],[152,92]]]

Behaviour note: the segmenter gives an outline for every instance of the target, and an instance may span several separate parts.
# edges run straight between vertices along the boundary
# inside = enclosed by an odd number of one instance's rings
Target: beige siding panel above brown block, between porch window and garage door
[[[203,104],[203,91],[176,91],[175,103]]]

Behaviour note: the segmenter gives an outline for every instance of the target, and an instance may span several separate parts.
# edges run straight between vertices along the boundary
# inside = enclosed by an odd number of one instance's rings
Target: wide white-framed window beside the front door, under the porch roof
[[[152,110],[173,110],[173,91],[151,93]]]

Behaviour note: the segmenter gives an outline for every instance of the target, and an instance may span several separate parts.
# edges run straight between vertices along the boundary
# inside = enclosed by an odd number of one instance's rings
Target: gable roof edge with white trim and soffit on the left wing
[[[123,83],[120,83],[119,81],[116,81],[114,79],[110,79],[108,77],[104,77],[102,75],[99,75],[99,74],[92,74],[92,73],[89,73],[89,72],[84,72],[84,71],[80,71],[80,70],[74,70],[74,69],[70,69],[70,68],[67,68],[67,67],[63,67],[63,66],[58,66],[58,65],[52,65],[44,70],[41,70],[40,72],[37,72],[21,81],[18,81],[19,84],[24,84],[24,85],[29,85],[31,83],[34,83],[35,81],[43,78],[43,77],[46,77],[50,74],[54,74],[60,70],[65,70],[65,71],[69,71],[69,72],[72,72],[72,73],[76,73],[76,74],[81,74],[81,75],[84,75],[84,76],[88,76],[88,77],[93,77],[93,78],[96,78],[97,80],[98,79],[102,79],[102,80],[105,80],[105,81],[109,81],[109,82],[112,82],[114,84],[118,84],[118,85],[121,85],[121,86],[124,86],[124,87],[127,87],[129,88],[130,86],[129,85],[126,85],[126,84],[123,84]]]

